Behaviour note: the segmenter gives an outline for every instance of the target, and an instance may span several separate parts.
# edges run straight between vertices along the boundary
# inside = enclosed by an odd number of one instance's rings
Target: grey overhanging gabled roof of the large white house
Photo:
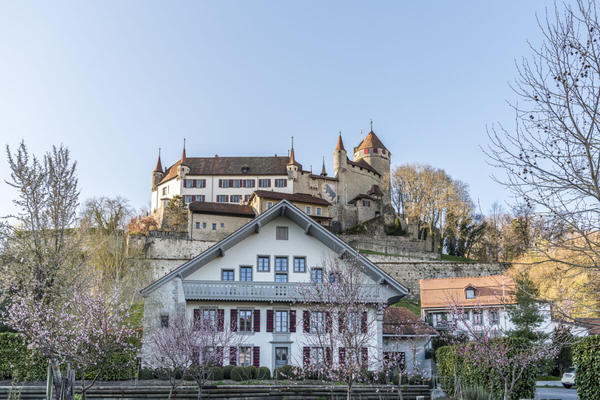
[[[167,273],[167,275],[164,275],[154,283],[143,288],[141,290],[142,295],[147,296],[149,293],[166,284],[176,276],[181,276],[182,279],[187,278],[197,269],[205,266],[215,258],[226,254],[229,249],[233,248],[233,246],[246,239],[248,236],[259,233],[260,227],[265,226],[278,216],[285,216],[290,219],[290,221],[303,228],[306,234],[310,234],[323,243],[323,245],[338,254],[338,257],[344,257],[346,254],[357,254],[359,261],[365,266],[365,274],[378,284],[386,285],[389,295],[389,304],[397,302],[401,297],[406,296],[408,293],[409,290],[406,287],[395,281],[394,278],[369,261],[367,257],[357,253],[356,250],[346,242],[335,236],[335,234],[331,233],[326,228],[323,228],[318,222],[314,221],[313,218],[310,218],[309,215],[306,215],[298,209],[298,207],[284,199],[227,236],[225,239],[206,249],[190,261],[187,261],[187,263],[182,264],[172,272]]]

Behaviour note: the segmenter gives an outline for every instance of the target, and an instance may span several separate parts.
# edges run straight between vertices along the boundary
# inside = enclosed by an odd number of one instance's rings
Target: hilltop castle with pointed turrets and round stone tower
[[[393,213],[389,188],[383,185],[383,177],[389,175],[391,153],[372,129],[353,148],[352,158],[341,133],[334,150],[334,177],[328,176],[325,161],[319,175],[303,169],[295,157],[293,138],[288,157],[187,157],[184,143],[181,159],[164,170],[159,152],[151,174],[151,210],[162,223],[164,206],[175,195],[188,204],[199,201],[251,207],[253,193],[272,191],[304,195],[309,203],[309,196],[328,201],[331,221],[324,225],[334,231]],[[228,207],[219,209],[227,213]],[[322,216],[315,215],[317,209],[304,208],[309,215]],[[260,210],[254,212],[257,215]],[[220,225],[224,227],[224,222]]]

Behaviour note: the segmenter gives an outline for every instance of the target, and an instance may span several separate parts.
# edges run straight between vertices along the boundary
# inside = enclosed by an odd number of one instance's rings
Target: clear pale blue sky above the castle
[[[284,155],[332,171],[369,120],[392,164],[442,167],[485,211],[506,200],[479,145],[514,127],[514,60],[539,46],[542,1],[0,2],[0,137],[64,143],[82,200],[150,199],[188,157]],[[364,137],[363,134],[363,137]],[[0,178],[8,179],[5,156]],[[3,186],[0,214],[15,193]]]

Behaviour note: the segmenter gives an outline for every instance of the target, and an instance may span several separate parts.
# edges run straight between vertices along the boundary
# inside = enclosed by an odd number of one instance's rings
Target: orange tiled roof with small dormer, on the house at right
[[[488,306],[514,304],[515,282],[508,275],[468,278],[421,279],[421,308],[446,308],[448,305]],[[475,298],[467,299],[465,288],[475,287]]]

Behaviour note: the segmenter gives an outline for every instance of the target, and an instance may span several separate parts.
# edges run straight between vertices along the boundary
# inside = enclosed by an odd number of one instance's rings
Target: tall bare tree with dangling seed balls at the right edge
[[[494,177],[516,202],[535,209],[545,230],[529,264],[555,266],[556,275],[586,275],[581,292],[595,297],[600,281],[600,25],[594,0],[556,5],[538,19],[544,43],[518,65],[512,85],[517,128],[488,131]],[[560,267],[558,267],[560,266]],[[548,276],[551,278],[550,276]],[[569,316],[568,310],[557,312]]]

